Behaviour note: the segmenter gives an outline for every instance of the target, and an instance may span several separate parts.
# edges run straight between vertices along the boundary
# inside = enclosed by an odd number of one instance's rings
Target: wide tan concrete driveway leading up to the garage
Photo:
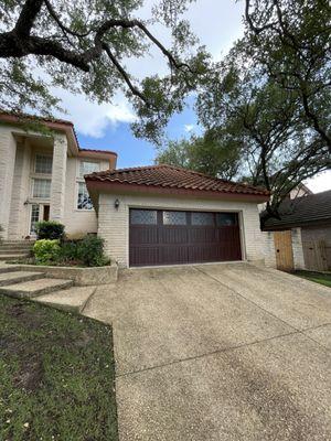
[[[137,269],[85,314],[114,326],[120,441],[331,440],[329,288],[247,263]]]

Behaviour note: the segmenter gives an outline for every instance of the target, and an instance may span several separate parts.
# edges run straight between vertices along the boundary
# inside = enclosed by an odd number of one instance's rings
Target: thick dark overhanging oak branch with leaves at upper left
[[[168,118],[182,109],[185,95],[204,72],[204,51],[180,14],[192,0],[159,0],[153,22],[139,20],[142,0],[3,0],[0,33],[0,108],[52,114],[58,105],[52,86],[110,101],[121,88],[131,99],[141,125],[136,131],[157,137]],[[172,34],[166,47],[150,31],[162,23]],[[132,78],[125,61],[154,46],[164,56],[169,75]],[[181,60],[184,57],[184,60]],[[36,77],[35,72],[42,72]]]

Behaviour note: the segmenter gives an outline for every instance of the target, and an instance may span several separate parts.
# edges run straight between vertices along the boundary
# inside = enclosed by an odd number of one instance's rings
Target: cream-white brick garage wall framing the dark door
[[[116,198],[120,201],[118,209],[114,206]],[[106,240],[106,254],[121,267],[127,267],[129,261],[130,207],[241,212],[243,258],[255,261],[264,258],[259,216],[255,203],[103,193],[99,196],[98,235]]]

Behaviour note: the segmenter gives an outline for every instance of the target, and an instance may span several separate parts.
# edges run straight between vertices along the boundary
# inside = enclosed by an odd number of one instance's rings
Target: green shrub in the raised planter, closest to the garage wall
[[[87,235],[77,243],[77,259],[87,267],[102,267],[109,263],[104,255],[104,239]]]

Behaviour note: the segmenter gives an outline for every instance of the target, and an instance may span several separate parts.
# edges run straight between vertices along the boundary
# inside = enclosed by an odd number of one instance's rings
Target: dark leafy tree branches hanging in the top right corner
[[[331,52],[328,0],[245,0],[249,56],[287,92],[331,152]]]

